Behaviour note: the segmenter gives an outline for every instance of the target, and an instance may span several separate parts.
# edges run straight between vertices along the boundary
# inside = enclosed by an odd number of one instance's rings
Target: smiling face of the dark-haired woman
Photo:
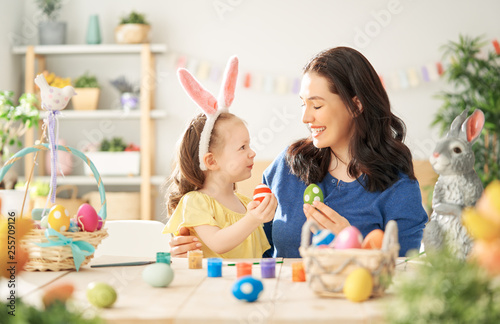
[[[302,77],[302,122],[311,130],[317,148],[345,150],[354,133],[353,116],[339,95],[328,88],[326,78],[314,72]]]

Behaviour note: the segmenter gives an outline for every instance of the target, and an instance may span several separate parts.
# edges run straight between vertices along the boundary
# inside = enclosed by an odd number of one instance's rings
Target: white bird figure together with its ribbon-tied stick
[[[40,97],[42,99],[42,109],[49,112],[47,118],[44,119],[48,132],[49,149],[50,149],[50,202],[56,201],[57,187],[57,115],[60,111],[66,108],[72,96],[76,95],[75,89],[72,86],[64,88],[52,87],[47,83],[43,74],[39,74],[35,78],[35,84],[40,88]]]

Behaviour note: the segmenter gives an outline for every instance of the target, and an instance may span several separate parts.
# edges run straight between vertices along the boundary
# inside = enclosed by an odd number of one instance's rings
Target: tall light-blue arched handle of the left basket
[[[105,221],[107,216],[106,193],[104,191],[104,185],[102,183],[101,176],[99,175],[99,172],[97,172],[94,163],[92,163],[92,161],[90,161],[90,159],[85,154],[83,154],[82,152],[80,152],[75,148],[64,145],[58,145],[57,149],[59,151],[66,151],[72,153],[73,155],[76,155],[77,157],[82,159],[85,163],[87,163],[87,165],[90,167],[90,170],[92,170],[94,178],[97,181],[97,187],[99,188],[99,195],[101,197],[101,209],[99,210],[98,215],[101,216],[103,221]],[[3,177],[5,176],[7,171],[9,171],[9,169],[12,167],[12,165],[14,165],[14,163],[16,163],[17,160],[20,160],[23,156],[37,151],[48,151],[48,150],[49,150],[49,145],[45,143],[40,145],[25,147],[24,149],[20,150],[19,152],[14,154],[9,160],[7,160],[7,162],[5,162],[5,164],[3,165],[3,168],[0,169],[0,181],[3,180]]]

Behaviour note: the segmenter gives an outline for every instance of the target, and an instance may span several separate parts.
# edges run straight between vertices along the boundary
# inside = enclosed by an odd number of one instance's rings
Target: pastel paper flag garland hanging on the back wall
[[[500,55],[500,43],[494,39],[493,48]],[[185,55],[172,53],[175,68],[187,68],[201,81],[210,80],[220,82],[222,68],[206,60],[188,58]],[[435,82],[443,75],[450,62],[426,63],[420,67],[399,69],[388,75],[379,75],[380,81],[387,90],[401,90],[415,88],[425,83]],[[245,89],[261,91],[268,94],[298,94],[300,91],[300,77],[285,77],[263,75],[258,72],[242,71],[238,85]]]

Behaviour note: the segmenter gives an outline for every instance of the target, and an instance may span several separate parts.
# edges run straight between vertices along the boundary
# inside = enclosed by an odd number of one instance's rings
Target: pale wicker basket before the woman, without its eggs
[[[309,287],[324,297],[344,297],[344,281],[355,269],[368,269],[373,278],[371,297],[384,294],[390,285],[399,254],[398,227],[389,221],[381,250],[318,249],[310,245],[311,229],[319,229],[315,222],[307,221],[302,227],[300,255],[304,258],[306,280]]]

